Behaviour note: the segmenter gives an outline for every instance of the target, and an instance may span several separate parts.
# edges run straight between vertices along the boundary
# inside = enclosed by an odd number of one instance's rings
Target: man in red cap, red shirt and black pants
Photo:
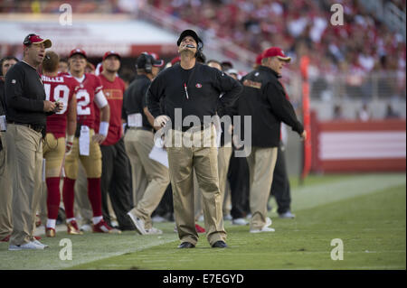
[[[131,209],[131,187],[129,160],[123,141],[121,109],[125,83],[117,76],[120,69],[120,55],[116,51],[107,51],[102,60],[103,70],[99,79],[103,86],[103,94],[110,107],[109,133],[100,144],[102,153],[101,196],[103,218],[111,226],[108,197],[118,219],[121,230],[132,230],[133,225],[127,216]],[[95,107],[95,127],[99,127],[99,109]],[[109,193],[109,196],[108,196]]]

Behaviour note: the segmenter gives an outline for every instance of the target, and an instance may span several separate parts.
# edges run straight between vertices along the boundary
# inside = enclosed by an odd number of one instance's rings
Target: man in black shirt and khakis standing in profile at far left
[[[45,98],[37,67],[43,62],[50,40],[29,34],[24,39],[24,59],[5,76],[7,116],[7,165],[13,177],[13,232],[9,250],[47,247],[33,237],[35,209],[41,194],[43,143],[46,116],[62,110],[62,105]]]

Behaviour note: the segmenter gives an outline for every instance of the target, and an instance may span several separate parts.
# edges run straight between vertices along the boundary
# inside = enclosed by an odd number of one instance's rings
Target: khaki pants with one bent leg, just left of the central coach
[[[169,184],[168,169],[148,157],[154,146],[153,132],[129,129],[124,140],[134,180],[135,207],[130,213],[144,219],[146,228],[149,229],[152,227],[151,214],[160,203]]]

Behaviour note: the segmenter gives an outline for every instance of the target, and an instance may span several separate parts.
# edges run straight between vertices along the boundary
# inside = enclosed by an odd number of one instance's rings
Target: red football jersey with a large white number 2
[[[102,89],[99,77],[85,73],[85,79],[80,82],[80,88],[76,93],[78,122],[95,129],[95,108],[93,100]],[[98,127],[99,128],[99,127]]]

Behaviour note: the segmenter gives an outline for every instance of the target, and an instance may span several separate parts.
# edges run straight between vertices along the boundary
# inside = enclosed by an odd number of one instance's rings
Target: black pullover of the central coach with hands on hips
[[[147,90],[147,107],[155,117],[169,116],[173,128],[175,108],[182,109],[183,121],[186,116],[197,116],[204,124],[204,116],[214,116],[220,106],[225,111],[232,107],[241,90],[238,81],[220,70],[201,63],[195,63],[191,70],[184,70],[176,64],[162,70],[151,82]],[[224,94],[219,98],[221,93]],[[160,100],[163,100],[164,109],[160,107]]]

